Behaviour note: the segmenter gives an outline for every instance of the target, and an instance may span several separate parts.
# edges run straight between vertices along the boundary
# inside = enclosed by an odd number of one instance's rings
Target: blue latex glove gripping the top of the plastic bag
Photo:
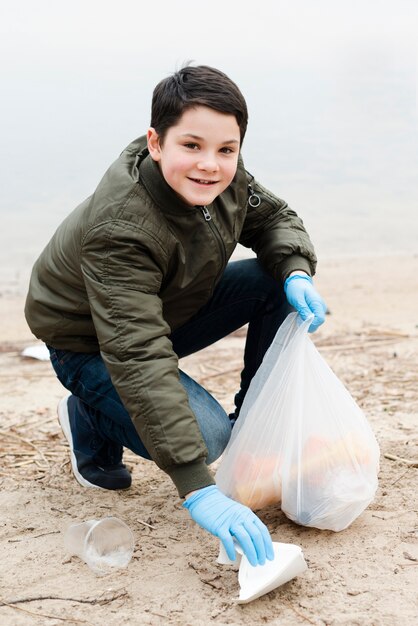
[[[309,326],[309,332],[314,333],[325,322],[327,305],[313,286],[312,278],[299,274],[289,276],[284,283],[284,292],[289,304],[304,321],[314,314],[315,317]]]

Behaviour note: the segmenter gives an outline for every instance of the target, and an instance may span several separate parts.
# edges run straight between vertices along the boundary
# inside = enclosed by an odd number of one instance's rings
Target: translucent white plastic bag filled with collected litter
[[[253,510],[339,531],[373,500],[379,446],[366,417],[291,313],[246,394],[216,482]]]

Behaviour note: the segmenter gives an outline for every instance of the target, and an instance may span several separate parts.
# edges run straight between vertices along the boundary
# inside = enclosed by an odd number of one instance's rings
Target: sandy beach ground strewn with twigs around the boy
[[[24,298],[2,292],[2,624],[417,623],[418,468],[407,461],[418,462],[418,256],[326,260],[316,284],[331,314],[313,339],[374,429],[379,489],[341,533],[297,526],[278,507],[260,512],[273,539],[300,545],[309,567],[248,605],[236,604],[236,571],[216,563],[218,541],[190,520],[154,464],[127,452],[126,492],[75,481],[56,419],[64,390],[49,363],[20,356],[36,343]],[[243,343],[241,331],[181,363],[226,408]],[[128,524],[136,549],[126,570],[100,578],[65,554],[63,531],[107,515]]]

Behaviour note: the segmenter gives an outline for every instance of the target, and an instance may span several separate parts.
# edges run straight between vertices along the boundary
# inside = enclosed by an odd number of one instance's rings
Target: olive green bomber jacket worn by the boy
[[[32,332],[58,349],[100,350],[141,440],[180,496],[214,480],[169,336],[209,300],[237,242],[256,252],[278,289],[295,269],[315,271],[302,221],[241,161],[211,205],[190,207],[141,137],[64,220],[32,271]]]

